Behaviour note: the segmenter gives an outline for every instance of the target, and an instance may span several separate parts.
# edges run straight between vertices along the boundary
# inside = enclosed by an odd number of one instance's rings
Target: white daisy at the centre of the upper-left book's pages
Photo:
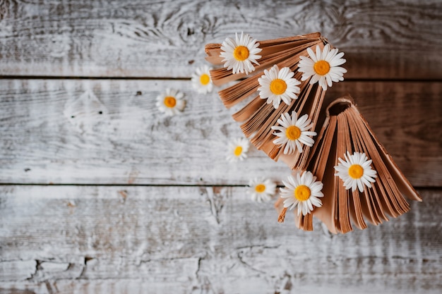
[[[297,85],[301,84],[299,80],[292,78],[294,73],[290,68],[279,69],[274,65],[270,70],[264,70],[264,75],[258,78],[259,96],[261,99],[267,99],[267,104],[273,103],[277,109],[280,106],[281,99],[285,104],[290,105],[292,99],[298,99],[300,89]],[[295,94],[296,93],[296,94]]]

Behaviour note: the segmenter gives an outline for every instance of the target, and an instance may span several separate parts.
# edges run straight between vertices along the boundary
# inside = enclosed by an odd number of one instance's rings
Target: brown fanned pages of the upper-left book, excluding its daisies
[[[283,147],[273,143],[275,135],[271,127],[278,125],[277,121],[282,114],[292,114],[294,111],[298,118],[307,114],[311,120],[311,130],[314,130],[323,104],[325,90],[317,82],[311,85],[311,78],[309,78],[300,82],[297,99],[292,99],[289,104],[280,103],[275,109],[272,104],[266,103],[265,99],[261,99],[257,94],[260,86],[258,79],[262,78],[264,70],[276,65],[277,68],[289,68],[289,71],[294,73],[293,78],[300,81],[302,76],[302,73],[298,71],[300,56],[308,57],[308,48],[314,50],[318,46],[323,49],[326,44],[328,44],[327,39],[321,37],[318,32],[259,41],[259,48],[262,49],[261,58],[257,60],[259,65],[256,66],[256,70],[250,75],[246,75],[246,73],[234,74],[227,68],[217,68],[210,71],[215,85],[240,80],[235,85],[219,92],[222,102],[229,108],[249,98],[249,102],[233,114],[234,120],[241,123],[244,135],[249,137],[257,149],[263,150],[272,159],[284,159],[291,169],[302,169],[306,165],[311,147],[303,145],[301,152],[297,149],[291,154],[285,154]],[[222,44],[205,45],[205,52],[208,55],[206,60],[217,66],[222,65],[221,47]]]

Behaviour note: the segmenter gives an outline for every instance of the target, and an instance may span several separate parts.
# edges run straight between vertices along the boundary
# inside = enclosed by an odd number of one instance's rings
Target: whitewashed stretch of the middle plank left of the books
[[[247,161],[229,164],[227,142],[241,130],[216,93],[196,94],[189,81],[0,84],[8,89],[0,90],[2,183],[235,184],[289,173],[256,149]],[[181,116],[157,110],[166,87],[185,92]]]

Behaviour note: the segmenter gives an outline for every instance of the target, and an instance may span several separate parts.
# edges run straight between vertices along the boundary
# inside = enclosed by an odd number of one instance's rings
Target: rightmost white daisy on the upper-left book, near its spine
[[[344,80],[342,75],[347,73],[345,68],[340,67],[340,65],[345,63],[345,59],[341,57],[344,56],[343,52],[338,53],[338,49],[331,49],[330,45],[326,44],[323,51],[316,45],[316,54],[313,50],[307,48],[309,57],[300,56],[299,61],[299,71],[304,73],[301,80],[307,80],[311,76],[310,84],[314,84],[319,81],[319,85],[323,90],[327,90],[328,87],[332,86],[332,82],[339,82]]]

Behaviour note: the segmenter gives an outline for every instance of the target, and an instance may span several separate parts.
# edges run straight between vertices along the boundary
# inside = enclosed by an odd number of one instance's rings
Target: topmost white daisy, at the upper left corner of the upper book
[[[256,39],[252,39],[249,34],[243,34],[241,37],[235,33],[235,39],[227,37],[221,46],[221,55],[224,59],[224,67],[227,70],[233,69],[233,73],[246,73],[248,75],[255,71],[255,67],[251,64],[256,63],[256,59],[261,59],[261,55],[256,55],[262,51],[258,48],[259,43]]]

